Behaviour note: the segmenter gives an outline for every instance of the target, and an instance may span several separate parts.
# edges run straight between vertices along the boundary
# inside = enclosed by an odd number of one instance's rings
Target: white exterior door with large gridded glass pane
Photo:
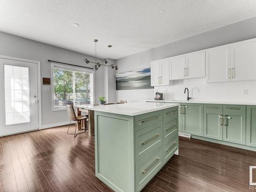
[[[0,136],[37,130],[37,63],[0,59],[0,78]]]

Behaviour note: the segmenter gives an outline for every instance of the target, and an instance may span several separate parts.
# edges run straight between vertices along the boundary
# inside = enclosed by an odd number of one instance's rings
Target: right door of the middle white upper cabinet
[[[205,51],[186,54],[186,77],[205,77]]]

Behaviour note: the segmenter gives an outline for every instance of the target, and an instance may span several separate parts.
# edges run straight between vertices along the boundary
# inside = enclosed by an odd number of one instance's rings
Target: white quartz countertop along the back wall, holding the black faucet
[[[146,102],[164,102],[164,103],[208,103],[208,104],[243,104],[256,105],[255,101],[214,101],[214,100],[146,100]]]

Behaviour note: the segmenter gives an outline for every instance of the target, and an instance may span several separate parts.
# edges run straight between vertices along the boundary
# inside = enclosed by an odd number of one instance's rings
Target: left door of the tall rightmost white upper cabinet
[[[206,82],[230,81],[230,47],[206,51]]]

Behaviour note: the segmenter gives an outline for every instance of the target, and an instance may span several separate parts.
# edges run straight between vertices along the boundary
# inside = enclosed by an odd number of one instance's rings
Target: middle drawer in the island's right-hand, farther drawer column
[[[165,120],[163,122],[163,142],[174,135],[178,135],[178,129],[178,117]]]

